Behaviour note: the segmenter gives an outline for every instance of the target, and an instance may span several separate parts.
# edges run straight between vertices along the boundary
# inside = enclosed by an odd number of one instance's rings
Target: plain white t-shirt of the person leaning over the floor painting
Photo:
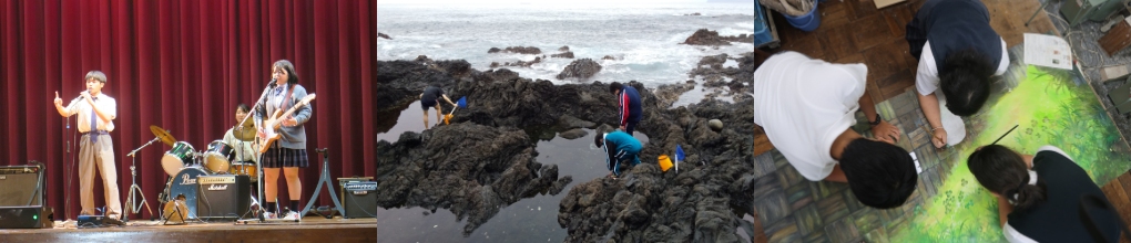
[[[829,154],[832,141],[856,124],[867,66],[783,52],[766,60],[753,79],[754,123],[802,177],[828,177],[837,164]]]

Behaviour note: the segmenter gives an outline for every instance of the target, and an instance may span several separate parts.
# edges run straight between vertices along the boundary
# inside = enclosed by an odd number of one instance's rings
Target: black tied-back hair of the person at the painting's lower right
[[[1016,210],[1026,210],[1045,201],[1044,179],[1037,177],[1037,184],[1029,184],[1025,159],[1009,147],[986,145],[972,153],[966,165],[982,187],[1005,197]]]

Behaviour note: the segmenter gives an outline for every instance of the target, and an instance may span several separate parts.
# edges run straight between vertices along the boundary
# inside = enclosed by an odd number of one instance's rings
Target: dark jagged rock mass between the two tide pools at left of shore
[[[451,210],[467,218],[465,236],[499,208],[572,180],[558,179],[555,164],[535,162],[533,143],[517,128],[437,126],[406,132],[394,144],[380,141],[377,151],[379,206]]]

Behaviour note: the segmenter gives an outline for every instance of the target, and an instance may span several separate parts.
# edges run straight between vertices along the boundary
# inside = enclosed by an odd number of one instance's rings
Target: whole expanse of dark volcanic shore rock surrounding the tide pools
[[[423,82],[438,84],[450,97],[467,97],[468,107],[455,115],[454,125],[423,134],[407,132],[396,144],[378,144],[382,158],[379,181],[402,181],[380,183],[379,190],[388,191],[379,197],[382,207],[449,208],[459,218],[467,217],[468,227],[474,230],[473,223],[498,212],[487,206],[507,205],[534,191],[562,190],[571,180],[542,169],[551,165],[536,162],[530,150],[535,137],[520,128],[549,127],[580,137],[585,135],[573,134],[578,128],[607,127],[616,120],[615,98],[607,82],[554,86],[506,69],[470,70],[460,76],[397,62],[403,61],[378,65],[405,69],[390,73],[379,70],[379,96],[388,96],[379,100],[411,101]],[[750,75],[743,73],[742,62],[737,70],[735,76]],[[569,190],[558,216],[559,225],[569,232],[566,241],[739,241],[735,228],[742,216],[733,209],[752,210],[760,196],[752,192],[756,182],[750,179],[765,173],[753,165],[751,101],[706,100],[668,108],[681,93],[694,88],[693,81],[655,91],[634,81],[628,86],[640,91],[644,104],[637,130],[647,134],[649,142],[640,153],[642,163],[625,168],[619,179],[582,181]],[[396,104],[378,105],[381,109]],[[711,129],[710,119],[726,126]],[[680,171],[661,171],[656,158],[673,154],[676,145],[688,155]]]

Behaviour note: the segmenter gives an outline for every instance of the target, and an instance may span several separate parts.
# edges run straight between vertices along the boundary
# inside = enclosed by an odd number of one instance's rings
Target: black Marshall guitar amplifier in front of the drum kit
[[[251,207],[251,182],[248,176],[222,174],[197,178],[197,217],[201,219],[239,219]]]

